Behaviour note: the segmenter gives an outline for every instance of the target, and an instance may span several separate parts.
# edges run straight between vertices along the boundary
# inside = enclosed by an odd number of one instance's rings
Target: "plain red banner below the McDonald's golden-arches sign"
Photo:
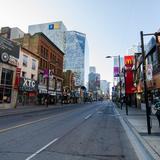
[[[136,91],[136,87],[133,84],[133,71],[131,69],[126,70],[125,85],[126,95],[133,94]]]

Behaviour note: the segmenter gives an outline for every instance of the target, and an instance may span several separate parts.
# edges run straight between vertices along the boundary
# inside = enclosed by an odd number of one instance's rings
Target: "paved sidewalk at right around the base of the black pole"
[[[154,151],[154,155],[160,159],[160,128],[155,115],[151,115],[152,128],[151,135],[147,133],[146,111],[135,107],[128,107],[128,116],[126,115],[125,105],[122,110],[116,107],[123,120],[128,123],[143,139],[144,142]],[[149,151],[150,152],[150,151]],[[157,158],[156,158],[157,159]]]

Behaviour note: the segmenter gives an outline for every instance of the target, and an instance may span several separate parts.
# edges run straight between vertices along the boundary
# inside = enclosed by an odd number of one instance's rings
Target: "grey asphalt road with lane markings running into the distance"
[[[137,160],[110,102],[0,118],[0,160]]]

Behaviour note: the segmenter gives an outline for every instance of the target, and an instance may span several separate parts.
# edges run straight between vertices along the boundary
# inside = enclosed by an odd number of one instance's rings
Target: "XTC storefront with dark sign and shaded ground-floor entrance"
[[[37,81],[29,78],[20,78],[17,99],[18,105],[37,104]]]

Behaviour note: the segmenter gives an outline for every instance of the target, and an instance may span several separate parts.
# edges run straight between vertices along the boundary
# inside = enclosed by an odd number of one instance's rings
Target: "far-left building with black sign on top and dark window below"
[[[0,36],[0,107],[15,107],[15,79],[19,46]]]

